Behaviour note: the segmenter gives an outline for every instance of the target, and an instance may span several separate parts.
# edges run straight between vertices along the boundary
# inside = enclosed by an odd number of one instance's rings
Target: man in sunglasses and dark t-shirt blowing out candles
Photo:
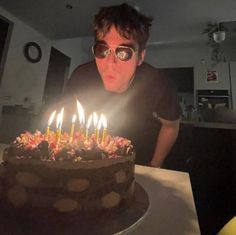
[[[107,115],[108,131],[129,138],[136,163],[160,167],[179,130],[179,107],[170,81],[143,63],[152,19],[127,4],[101,8],[94,19],[95,61],[75,69],[65,96]]]

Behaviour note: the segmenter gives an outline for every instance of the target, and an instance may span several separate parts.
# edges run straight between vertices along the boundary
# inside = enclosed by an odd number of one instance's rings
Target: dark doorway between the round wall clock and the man
[[[45,111],[49,110],[60,99],[68,76],[70,61],[71,59],[68,56],[53,47],[51,48],[43,96]]]

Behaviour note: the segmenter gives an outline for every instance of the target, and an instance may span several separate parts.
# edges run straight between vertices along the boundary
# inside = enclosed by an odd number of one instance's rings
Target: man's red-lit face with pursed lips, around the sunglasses
[[[108,91],[121,93],[131,84],[136,67],[142,64],[145,53],[143,51],[139,54],[137,42],[122,37],[115,27],[111,27],[103,38],[98,38],[98,41],[111,48],[111,52],[105,58],[95,57],[104,87]],[[115,49],[124,45],[136,49],[128,61],[121,61],[115,55]]]

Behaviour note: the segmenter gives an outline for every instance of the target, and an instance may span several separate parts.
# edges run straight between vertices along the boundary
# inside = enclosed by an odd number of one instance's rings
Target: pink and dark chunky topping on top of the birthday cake
[[[76,162],[127,156],[132,152],[131,141],[123,137],[107,135],[104,141],[97,142],[95,134],[86,140],[84,135],[76,132],[71,141],[69,134],[64,132],[61,133],[58,143],[57,133],[50,131],[44,135],[37,130],[35,133],[25,132],[17,137],[8,148],[7,155],[19,159]]]

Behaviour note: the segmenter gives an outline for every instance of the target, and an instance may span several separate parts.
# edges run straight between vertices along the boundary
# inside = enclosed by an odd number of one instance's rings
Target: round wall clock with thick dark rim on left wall
[[[41,60],[42,50],[36,42],[28,42],[24,46],[24,55],[31,63],[37,63]]]

